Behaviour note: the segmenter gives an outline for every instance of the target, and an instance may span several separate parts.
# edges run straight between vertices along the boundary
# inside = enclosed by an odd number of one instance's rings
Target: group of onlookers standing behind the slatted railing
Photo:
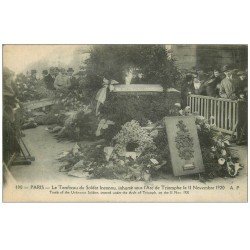
[[[193,70],[186,74],[181,86],[182,106],[187,105],[189,94],[205,95],[226,99],[247,99],[247,70],[234,69],[228,65],[222,70],[205,73]]]

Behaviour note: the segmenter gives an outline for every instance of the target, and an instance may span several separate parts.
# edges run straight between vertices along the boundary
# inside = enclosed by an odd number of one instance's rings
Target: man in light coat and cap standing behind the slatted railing
[[[220,97],[236,100],[237,86],[235,81],[233,81],[232,71],[228,65],[222,68],[222,72],[225,74],[225,78],[221,81],[220,85]]]

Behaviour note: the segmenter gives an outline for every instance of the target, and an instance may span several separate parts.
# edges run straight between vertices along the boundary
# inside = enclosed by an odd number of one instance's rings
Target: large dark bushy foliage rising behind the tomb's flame
[[[125,71],[130,67],[143,74],[144,83],[161,84],[164,88],[176,86],[180,74],[168,55],[163,45],[95,46],[86,62],[87,88],[100,88],[104,77],[123,84]]]

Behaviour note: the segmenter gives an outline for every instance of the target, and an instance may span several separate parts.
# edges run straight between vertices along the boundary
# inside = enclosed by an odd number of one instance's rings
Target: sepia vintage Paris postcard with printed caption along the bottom
[[[248,46],[3,45],[4,202],[247,202]]]

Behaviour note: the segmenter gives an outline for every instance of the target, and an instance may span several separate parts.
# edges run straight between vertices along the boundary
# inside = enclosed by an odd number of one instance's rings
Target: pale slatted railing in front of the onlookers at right
[[[203,95],[189,95],[187,102],[191,108],[191,113],[198,113],[209,122],[211,122],[210,117],[212,116],[216,129],[228,134],[236,132],[237,124],[242,115],[241,111],[247,108],[247,103],[242,100],[230,100]]]

